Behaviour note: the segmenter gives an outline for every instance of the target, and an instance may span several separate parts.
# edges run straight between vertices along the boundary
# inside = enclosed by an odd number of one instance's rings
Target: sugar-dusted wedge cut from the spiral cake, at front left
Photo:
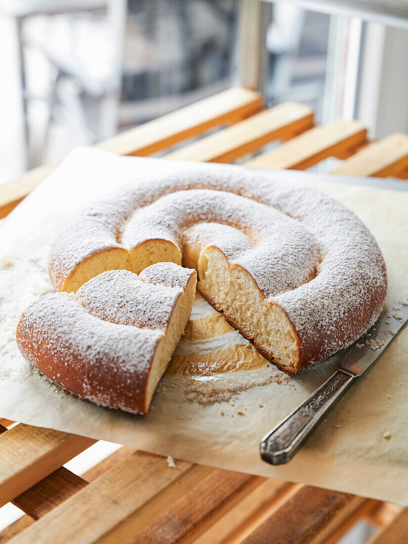
[[[195,285],[194,270],[169,262],[139,276],[107,271],[76,294],[35,301],[18,323],[18,348],[66,390],[145,414],[186,327]]]

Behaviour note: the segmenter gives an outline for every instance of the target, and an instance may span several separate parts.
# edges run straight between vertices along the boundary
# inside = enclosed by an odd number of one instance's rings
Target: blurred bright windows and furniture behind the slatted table
[[[256,85],[267,104],[360,119],[371,138],[408,131],[404,24],[329,2],[264,4]],[[0,184],[242,81],[243,5],[0,0]]]

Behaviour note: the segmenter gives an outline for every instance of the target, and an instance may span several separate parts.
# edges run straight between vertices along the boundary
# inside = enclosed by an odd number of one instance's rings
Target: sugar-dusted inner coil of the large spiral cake
[[[225,240],[220,230],[211,237],[231,264],[242,265],[256,278],[265,296],[299,287],[320,262],[316,238],[298,221],[273,207],[220,190],[190,189],[162,196],[134,213],[122,243],[133,248],[158,237],[182,248],[184,230],[209,221],[234,227],[252,240],[251,244],[237,235]]]

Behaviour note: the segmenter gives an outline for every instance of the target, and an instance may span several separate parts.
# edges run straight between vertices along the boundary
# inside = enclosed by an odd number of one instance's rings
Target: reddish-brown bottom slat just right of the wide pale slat
[[[214,470],[170,508],[133,535],[127,544],[186,544],[256,489],[264,478]]]

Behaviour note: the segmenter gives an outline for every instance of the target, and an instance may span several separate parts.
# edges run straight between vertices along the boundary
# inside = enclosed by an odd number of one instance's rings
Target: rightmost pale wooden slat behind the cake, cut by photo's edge
[[[332,174],[397,176],[408,168],[408,135],[396,132],[343,160]]]

